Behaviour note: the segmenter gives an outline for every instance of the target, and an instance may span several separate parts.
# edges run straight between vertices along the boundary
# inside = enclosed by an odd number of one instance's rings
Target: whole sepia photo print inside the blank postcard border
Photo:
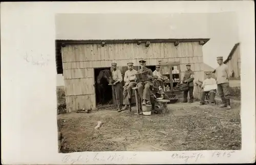
[[[241,150],[237,15],[56,14],[59,153]]]

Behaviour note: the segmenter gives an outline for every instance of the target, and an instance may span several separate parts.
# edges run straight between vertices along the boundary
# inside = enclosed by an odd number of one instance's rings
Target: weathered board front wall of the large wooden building
[[[153,42],[146,47],[145,43],[114,43],[66,45],[61,48],[63,77],[65,81],[68,111],[76,108],[95,108],[94,68],[110,67],[112,62],[126,66],[133,62],[139,66],[141,58],[147,65],[156,65],[159,60],[180,62],[181,78],[186,64],[191,64],[195,80],[203,79],[203,53],[199,42],[181,42],[174,46],[172,42]],[[123,70],[124,74],[124,70]]]

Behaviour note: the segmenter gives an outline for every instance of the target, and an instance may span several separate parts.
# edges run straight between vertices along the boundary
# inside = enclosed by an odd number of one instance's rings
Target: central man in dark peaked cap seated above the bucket
[[[143,100],[142,105],[151,105],[150,102],[150,87],[153,86],[152,77],[153,72],[150,68],[146,67],[146,61],[139,61],[141,68],[138,70],[138,74],[142,73],[144,81],[138,82],[138,91],[140,98]]]

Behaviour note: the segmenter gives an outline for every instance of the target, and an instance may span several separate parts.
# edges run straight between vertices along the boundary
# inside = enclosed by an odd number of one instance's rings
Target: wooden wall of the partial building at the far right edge
[[[234,51],[233,55],[230,57],[228,62],[226,63],[229,70],[233,70],[233,78],[240,79],[240,72],[241,72],[241,55],[239,50],[239,45]]]

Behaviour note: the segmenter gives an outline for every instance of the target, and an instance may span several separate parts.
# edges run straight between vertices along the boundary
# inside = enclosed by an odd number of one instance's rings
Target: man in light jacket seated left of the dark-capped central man
[[[133,68],[133,63],[127,63],[128,70],[124,74],[123,81],[125,82],[124,88],[123,88],[123,104],[124,107],[119,110],[118,112],[121,112],[122,110],[126,110],[129,106],[131,108],[131,100],[133,96],[133,87],[136,87],[137,83],[135,82],[135,74],[137,74],[137,70]]]

